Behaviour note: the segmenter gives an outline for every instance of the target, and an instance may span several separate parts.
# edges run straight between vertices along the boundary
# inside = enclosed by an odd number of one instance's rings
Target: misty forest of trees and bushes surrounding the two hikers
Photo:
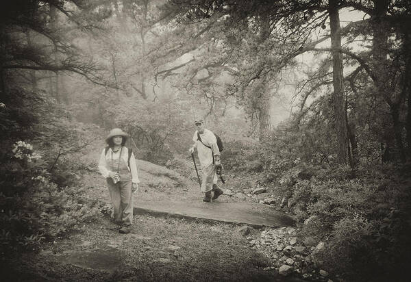
[[[266,188],[306,246],[325,242],[316,266],[334,281],[406,281],[410,1],[14,0],[0,14],[2,261],[101,214],[81,183],[110,129],[184,175],[202,118],[224,173]]]

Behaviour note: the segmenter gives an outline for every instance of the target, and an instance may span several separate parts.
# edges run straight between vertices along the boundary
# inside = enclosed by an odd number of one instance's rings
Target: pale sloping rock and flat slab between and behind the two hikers
[[[295,220],[276,211],[269,205],[247,201],[247,195],[234,194],[225,190],[212,203],[204,203],[197,183],[182,177],[177,172],[142,160],[138,162],[140,189],[134,194],[134,212],[153,216],[174,216],[177,218],[201,218],[252,227],[284,227],[295,225]],[[110,205],[110,196],[100,175],[92,198],[98,198]],[[221,187],[223,188],[223,187]],[[92,190],[90,190],[92,192]],[[238,196],[239,195],[239,196]]]

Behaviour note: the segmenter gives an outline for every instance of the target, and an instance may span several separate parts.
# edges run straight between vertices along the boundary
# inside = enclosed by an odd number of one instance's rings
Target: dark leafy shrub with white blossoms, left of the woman
[[[0,168],[1,253],[10,248],[36,249],[96,216],[97,202],[86,200],[81,188],[53,183],[45,162],[29,159],[36,155],[32,150],[25,149],[21,158],[12,153]]]

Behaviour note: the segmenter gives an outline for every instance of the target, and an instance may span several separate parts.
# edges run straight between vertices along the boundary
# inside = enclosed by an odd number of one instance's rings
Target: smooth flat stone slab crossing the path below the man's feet
[[[171,215],[179,218],[201,218],[253,227],[284,227],[295,225],[291,216],[258,203],[184,203],[175,201],[138,201],[135,214]]]

